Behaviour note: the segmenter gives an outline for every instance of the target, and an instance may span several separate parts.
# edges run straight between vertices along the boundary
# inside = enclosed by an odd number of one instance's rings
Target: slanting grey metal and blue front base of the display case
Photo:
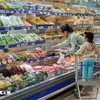
[[[75,82],[75,71],[56,76],[25,89],[0,97],[0,100],[38,100]],[[45,91],[45,92],[44,92]]]

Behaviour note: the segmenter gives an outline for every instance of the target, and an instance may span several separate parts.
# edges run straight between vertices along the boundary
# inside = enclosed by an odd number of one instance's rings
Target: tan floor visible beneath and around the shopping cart
[[[93,91],[89,93],[90,95],[88,97],[95,96],[95,91],[96,91],[96,88],[94,88]],[[70,95],[68,95],[68,93],[66,92],[53,100],[79,100],[79,99],[76,99],[73,93],[70,93]],[[82,99],[82,100],[94,100],[94,99]],[[99,87],[97,100],[100,100],[100,87]]]

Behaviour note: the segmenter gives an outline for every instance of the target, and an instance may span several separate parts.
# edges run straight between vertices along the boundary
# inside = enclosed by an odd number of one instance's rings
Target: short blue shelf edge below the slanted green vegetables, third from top
[[[45,40],[42,41],[33,41],[33,42],[26,42],[26,43],[16,43],[16,44],[9,44],[9,45],[0,45],[0,49],[7,49],[7,48],[17,48],[17,47],[24,47],[24,46],[34,46],[34,45],[42,45],[45,44]]]

